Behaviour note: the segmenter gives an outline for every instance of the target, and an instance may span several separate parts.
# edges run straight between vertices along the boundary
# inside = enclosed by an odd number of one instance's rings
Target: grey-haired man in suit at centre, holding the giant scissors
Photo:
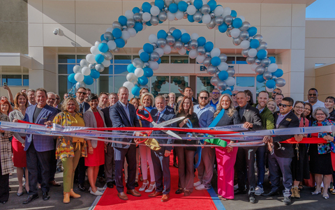
[[[156,109],[151,110],[150,114],[156,123],[162,123],[174,119],[176,115],[173,111],[166,107],[165,97],[157,96],[155,98]],[[152,126],[152,125],[151,125]],[[177,127],[177,123],[172,123],[170,126]],[[151,136],[165,134],[162,131],[154,131]],[[156,137],[159,144],[173,144],[172,139],[160,139]],[[155,170],[156,191],[149,194],[149,197],[163,195],[161,202],[166,202],[170,197],[170,153],[172,147],[161,147],[158,151],[151,150],[152,163]],[[164,181],[163,181],[164,180]]]

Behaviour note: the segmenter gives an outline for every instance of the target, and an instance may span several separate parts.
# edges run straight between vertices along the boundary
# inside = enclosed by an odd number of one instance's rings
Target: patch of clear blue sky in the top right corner
[[[316,0],[306,8],[306,18],[335,18],[335,0]]]

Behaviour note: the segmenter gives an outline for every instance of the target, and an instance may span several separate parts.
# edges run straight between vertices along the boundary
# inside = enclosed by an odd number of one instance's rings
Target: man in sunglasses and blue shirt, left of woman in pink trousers
[[[208,128],[214,119],[214,108],[209,104],[209,92],[200,91],[199,104],[194,105],[193,110],[198,115],[200,128]],[[205,142],[206,143],[206,142]],[[195,182],[196,190],[208,190],[211,188],[215,161],[215,148],[204,147],[202,149],[201,161],[198,166],[199,181]]]

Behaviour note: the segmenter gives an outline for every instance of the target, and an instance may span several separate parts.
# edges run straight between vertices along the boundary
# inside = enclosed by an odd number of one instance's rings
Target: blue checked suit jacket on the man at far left
[[[30,105],[29,107],[27,107],[23,121],[34,123],[33,117],[36,107],[37,105]],[[50,105],[45,105],[45,107],[43,107],[43,109],[40,111],[40,114],[38,114],[35,123],[44,126],[44,123],[46,121],[53,121],[57,113],[58,112],[56,108],[50,107]],[[24,151],[27,151],[27,149],[29,148],[31,140],[34,140],[34,147],[36,151],[41,152],[41,151],[50,151],[54,149],[53,136],[27,134],[24,144]]]

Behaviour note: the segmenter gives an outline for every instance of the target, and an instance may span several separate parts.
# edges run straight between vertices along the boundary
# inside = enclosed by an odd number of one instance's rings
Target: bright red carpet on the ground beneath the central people
[[[95,210],[104,210],[104,209],[118,209],[118,210],[130,210],[130,209],[216,209],[214,202],[211,200],[211,196],[207,193],[207,190],[193,190],[190,196],[184,197],[184,193],[176,195],[174,192],[178,189],[178,169],[173,167],[172,152],[170,156],[170,172],[171,172],[171,192],[170,200],[168,202],[161,202],[161,196],[151,198],[148,197],[150,193],[140,192],[141,197],[134,197],[128,195],[129,200],[121,200],[117,197],[117,189],[107,188],[103,196],[96,204]],[[148,170],[148,174],[149,170]],[[198,180],[195,180],[198,181]],[[139,185],[142,186],[142,182],[139,182]],[[124,186],[126,186],[124,184]],[[137,191],[140,188],[135,188]],[[125,187],[126,191],[126,187]]]

